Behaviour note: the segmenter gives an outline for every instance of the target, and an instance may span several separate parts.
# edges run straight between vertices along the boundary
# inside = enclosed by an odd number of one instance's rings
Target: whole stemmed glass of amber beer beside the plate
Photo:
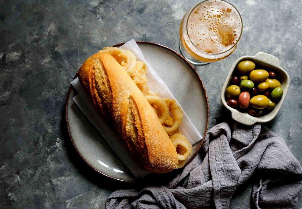
[[[239,11],[222,0],[193,5],[182,18],[179,49],[192,64],[205,65],[230,56],[242,34]]]

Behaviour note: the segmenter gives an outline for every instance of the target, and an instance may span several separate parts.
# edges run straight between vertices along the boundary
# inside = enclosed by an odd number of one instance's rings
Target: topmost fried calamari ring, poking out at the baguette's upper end
[[[125,49],[120,49],[118,47],[104,47],[102,50],[98,52],[107,52],[109,53],[114,59],[120,63],[120,65],[126,70],[129,76],[135,74],[135,66],[136,66],[136,57],[135,55]]]

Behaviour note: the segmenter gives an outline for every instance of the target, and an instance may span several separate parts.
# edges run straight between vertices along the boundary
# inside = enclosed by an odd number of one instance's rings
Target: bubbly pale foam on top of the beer
[[[232,48],[240,37],[241,28],[238,11],[220,0],[199,4],[191,12],[187,25],[191,42],[201,51],[211,54]]]

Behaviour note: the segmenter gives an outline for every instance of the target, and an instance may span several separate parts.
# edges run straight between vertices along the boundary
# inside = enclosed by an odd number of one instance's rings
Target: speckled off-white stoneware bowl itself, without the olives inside
[[[278,76],[280,76],[279,81],[281,82],[281,88],[283,89],[283,96],[280,99],[280,101],[278,101],[278,103],[276,104],[276,107],[268,114],[261,115],[259,117],[253,117],[253,116],[249,115],[248,113],[243,113],[234,108],[231,108],[226,103],[226,99],[225,99],[226,88],[230,85],[230,80],[232,78],[234,70],[237,69],[237,67],[236,67],[237,64],[243,60],[251,60],[251,61],[255,62],[256,65],[261,65],[265,68],[272,69],[273,71],[276,72],[276,74]],[[223,87],[221,90],[221,100],[222,100],[223,105],[228,110],[231,111],[233,120],[235,120],[239,123],[248,125],[248,126],[253,125],[257,122],[266,123],[268,121],[271,121],[279,112],[279,110],[283,104],[283,101],[285,99],[286,93],[288,91],[288,87],[289,87],[289,76],[286,73],[286,71],[282,67],[280,67],[279,59],[273,55],[269,55],[264,52],[258,52],[255,56],[243,56],[235,61],[235,63],[231,67],[230,72],[227,75],[226,80],[223,84]]]

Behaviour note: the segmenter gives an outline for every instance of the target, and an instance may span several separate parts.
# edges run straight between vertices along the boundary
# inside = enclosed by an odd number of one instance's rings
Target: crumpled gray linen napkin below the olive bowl
[[[233,131],[233,132],[232,132]],[[214,126],[194,160],[164,185],[113,192],[106,208],[228,208],[236,189],[252,174],[257,208],[294,208],[302,168],[283,139],[260,124]],[[151,184],[151,185],[150,185]]]

